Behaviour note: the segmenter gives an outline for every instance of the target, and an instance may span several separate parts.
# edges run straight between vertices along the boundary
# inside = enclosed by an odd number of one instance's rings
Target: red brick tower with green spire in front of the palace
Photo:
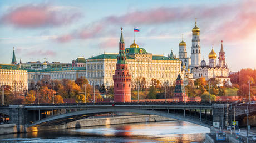
[[[125,42],[121,37],[119,42],[119,55],[117,55],[116,71],[113,75],[114,80],[114,101],[130,102],[131,101],[131,75],[129,74],[128,64],[125,54]]]

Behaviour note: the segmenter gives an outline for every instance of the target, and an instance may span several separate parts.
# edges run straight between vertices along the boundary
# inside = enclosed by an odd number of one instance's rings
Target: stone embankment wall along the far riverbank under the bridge
[[[157,115],[136,115],[136,116],[119,116],[119,117],[107,117],[107,118],[94,118],[94,119],[81,119],[73,122],[68,122],[62,125],[51,126],[33,126],[26,127],[26,125],[6,124],[0,125],[0,135],[14,134],[21,132],[34,132],[34,131],[47,131],[47,130],[60,130],[90,126],[104,126],[115,124],[130,124],[139,122],[155,122],[155,121],[171,121],[176,120],[172,118],[166,118]]]

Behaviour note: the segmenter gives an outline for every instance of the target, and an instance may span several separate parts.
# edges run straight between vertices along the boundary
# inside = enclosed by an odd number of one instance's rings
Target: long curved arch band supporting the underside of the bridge
[[[191,122],[193,124],[197,124],[197,125],[201,125],[201,126],[205,126],[205,127],[210,128],[210,125],[208,125],[204,122],[201,122],[200,120],[187,118],[187,117],[184,117],[182,115],[177,115],[177,114],[167,113],[167,112],[164,112],[164,111],[157,111],[157,110],[146,110],[146,109],[135,109],[135,108],[118,108],[118,107],[80,110],[80,111],[73,111],[71,113],[50,116],[48,118],[35,121],[32,124],[29,124],[28,127],[39,125],[39,124],[42,124],[43,122],[48,122],[48,121],[53,121],[53,120],[58,120],[58,119],[67,119],[67,118],[71,118],[72,116],[80,116],[80,115],[82,116],[82,115],[86,115],[86,114],[109,113],[109,112],[133,112],[133,113],[141,113],[141,114],[159,115],[159,116],[165,116],[165,117],[173,118],[173,119],[177,119],[177,120]]]

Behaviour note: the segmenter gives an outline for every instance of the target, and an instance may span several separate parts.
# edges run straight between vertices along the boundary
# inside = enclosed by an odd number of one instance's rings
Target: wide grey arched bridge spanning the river
[[[256,108],[250,107],[250,112]],[[244,116],[245,105],[236,105],[236,118]],[[0,113],[9,115],[10,122],[17,125],[46,126],[105,113],[132,112],[160,115],[188,121],[205,127],[223,126],[232,122],[234,105],[224,103],[87,103],[87,104],[31,104],[0,107]],[[228,112],[227,112],[228,111]],[[227,118],[228,117],[228,118]]]

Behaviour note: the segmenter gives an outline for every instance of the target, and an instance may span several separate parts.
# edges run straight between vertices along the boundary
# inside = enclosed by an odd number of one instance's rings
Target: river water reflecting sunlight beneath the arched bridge
[[[177,120],[9,134],[1,135],[0,142],[204,142],[208,132]]]

